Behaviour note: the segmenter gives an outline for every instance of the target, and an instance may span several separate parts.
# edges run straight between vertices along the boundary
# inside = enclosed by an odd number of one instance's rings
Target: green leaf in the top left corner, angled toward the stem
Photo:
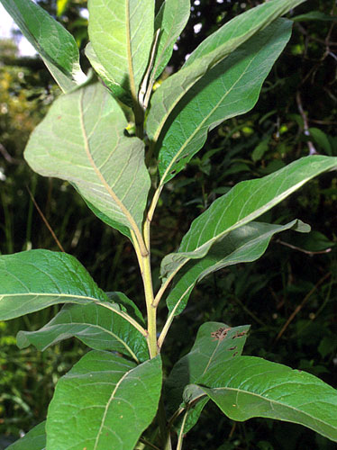
[[[73,36],[32,0],[1,0],[63,92],[87,80]]]

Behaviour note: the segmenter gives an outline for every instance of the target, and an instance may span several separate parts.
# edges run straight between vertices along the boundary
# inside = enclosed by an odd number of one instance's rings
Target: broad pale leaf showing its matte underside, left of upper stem
[[[102,85],[88,85],[52,104],[32,132],[25,158],[41,175],[77,191],[126,234],[140,234],[150,189],[141,139],[124,135],[123,112]],[[130,232],[128,233],[130,236]]]

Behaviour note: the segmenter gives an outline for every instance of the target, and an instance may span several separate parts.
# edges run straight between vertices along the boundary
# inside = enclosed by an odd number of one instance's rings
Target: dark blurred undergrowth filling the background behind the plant
[[[185,56],[217,27],[260,3],[192,2],[192,16],[170,70],[178,69]],[[59,14],[83,49],[86,2],[44,0],[41,4],[51,14]],[[337,15],[336,9],[333,0],[314,0],[296,8],[294,15],[313,10]],[[69,184],[41,178],[23,161],[25,142],[59,94],[58,88],[38,59],[19,58],[9,41],[0,42],[0,61],[6,63],[0,63],[1,253],[59,250],[33,197],[62,246],[87,267],[97,284],[106,291],[123,291],[141,306],[140,275],[127,239],[100,223]],[[267,175],[314,151],[337,156],[336,75],[335,22],[326,18],[296,22],[292,40],[254,110],[213,130],[205,148],[162,193],[152,231],[155,284],[159,283],[161,258],[178,247],[191,220],[233,184]],[[192,346],[205,320],[222,320],[232,326],[251,324],[244,354],[303,369],[335,385],[336,211],[337,177],[328,173],[261,218],[274,223],[299,218],[313,231],[305,236],[291,231],[282,234],[258,262],[223,269],[197,285],[165,343],[168,370]],[[59,376],[86,352],[78,341],[66,341],[43,353],[16,347],[19,329],[39,329],[55,311],[57,307],[0,322],[0,449],[11,437],[45,418]],[[164,303],[159,314],[164,320]],[[327,439],[293,424],[265,419],[235,424],[214,405],[206,407],[185,442],[189,450],[333,448]]]

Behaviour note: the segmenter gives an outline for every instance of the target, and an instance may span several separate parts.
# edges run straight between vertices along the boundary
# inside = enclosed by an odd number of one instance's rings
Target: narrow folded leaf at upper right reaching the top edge
[[[165,80],[153,94],[147,121],[151,140],[157,141],[169,114],[196,82],[246,40],[280,15],[305,0],[271,0],[236,16],[206,38],[178,73]]]

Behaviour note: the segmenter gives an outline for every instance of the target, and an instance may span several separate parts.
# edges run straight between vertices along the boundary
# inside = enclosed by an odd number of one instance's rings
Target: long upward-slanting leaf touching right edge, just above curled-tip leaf
[[[336,168],[337,157],[314,155],[302,157],[263,178],[236,184],[192,222],[178,253],[163,259],[163,274],[172,276],[189,259],[205,257],[214,243],[230,231],[257,219],[314,176]]]

